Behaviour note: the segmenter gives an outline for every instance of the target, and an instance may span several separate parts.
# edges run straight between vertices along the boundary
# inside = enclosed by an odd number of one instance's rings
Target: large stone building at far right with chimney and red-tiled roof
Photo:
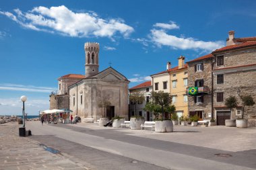
[[[241,118],[243,112],[241,97],[251,95],[256,101],[256,38],[234,38],[234,31],[228,32],[224,48],[212,52],[214,80],[214,114],[218,125],[225,119]],[[238,99],[238,108],[226,108],[224,101],[230,95]],[[244,118],[249,126],[256,126],[256,105],[245,107]]]

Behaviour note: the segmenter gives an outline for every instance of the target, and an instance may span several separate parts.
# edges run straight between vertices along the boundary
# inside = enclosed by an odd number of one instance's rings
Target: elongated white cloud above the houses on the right
[[[167,34],[165,30],[151,30],[151,40],[157,46],[170,46],[172,48],[178,48],[182,50],[207,50],[212,51],[217,48],[224,46],[224,42],[204,42],[202,40],[195,40],[194,38],[179,38],[177,36],[172,36]]]

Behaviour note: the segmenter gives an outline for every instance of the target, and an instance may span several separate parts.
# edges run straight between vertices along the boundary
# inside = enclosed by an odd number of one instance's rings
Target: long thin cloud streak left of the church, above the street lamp
[[[51,91],[56,91],[57,89],[53,87],[36,87],[33,85],[16,85],[16,84],[10,84],[10,83],[0,83],[0,90],[51,93]]]

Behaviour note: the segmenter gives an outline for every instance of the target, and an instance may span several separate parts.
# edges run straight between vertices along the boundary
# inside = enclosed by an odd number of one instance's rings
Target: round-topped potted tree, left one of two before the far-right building
[[[230,120],[225,120],[226,127],[236,127],[236,120],[232,120],[232,108],[237,107],[237,99],[234,96],[226,98],[225,105],[230,108]]]

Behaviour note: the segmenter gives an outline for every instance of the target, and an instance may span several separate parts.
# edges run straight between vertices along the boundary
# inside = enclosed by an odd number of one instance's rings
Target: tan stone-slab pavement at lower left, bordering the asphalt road
[[[0,169],[89,169],[61,154],[54,154],[28,137],[18,136],[17,122],[0,124]]]

